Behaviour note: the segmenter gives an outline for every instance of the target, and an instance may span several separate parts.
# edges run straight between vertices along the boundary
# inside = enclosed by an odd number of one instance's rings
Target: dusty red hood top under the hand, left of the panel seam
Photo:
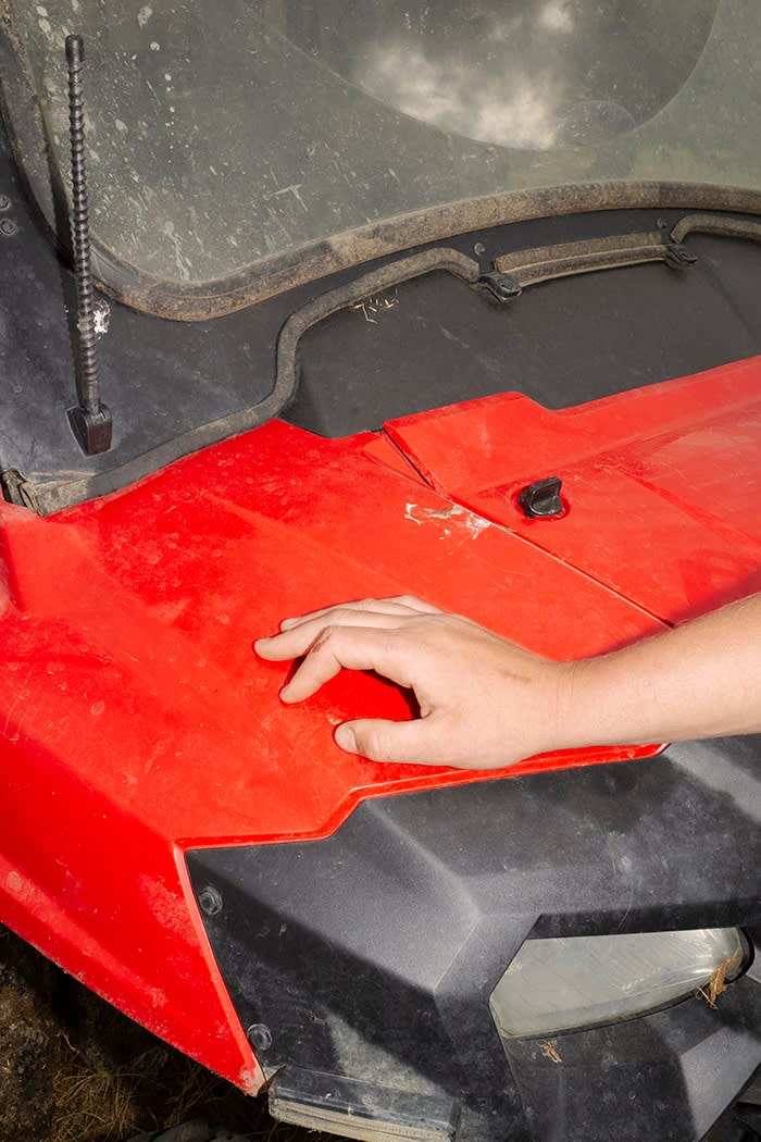
[[[371,463],[366,443],[275,423],[128,491],[25,521],[23,542],[7,517],[11,553],[19,536],[14,626],[30,693],[44,694],[43,714],[19,701],[11,718],[173,839],[317,835],[361,790],[475,778],[338,749],[332,732],[346,717],[407,713],[380,679],[347,674],[283,706],[288,667],[251,650],[282,618],[412,593],[556,658],[657,627],[589,577]]]

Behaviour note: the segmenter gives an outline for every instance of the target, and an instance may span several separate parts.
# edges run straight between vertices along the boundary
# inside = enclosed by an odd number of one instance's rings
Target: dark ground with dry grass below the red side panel
[[[124,1142],[202,1116],[318,1142],[114,1011],[0,927],[0,1142]]]

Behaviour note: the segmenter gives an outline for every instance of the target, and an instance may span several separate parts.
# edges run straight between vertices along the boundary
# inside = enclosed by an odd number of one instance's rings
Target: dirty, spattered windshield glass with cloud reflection
[[[153,276],[606,179],[761,185],[758,0],[15,0],[62,167],[87,45],[91,214]]]

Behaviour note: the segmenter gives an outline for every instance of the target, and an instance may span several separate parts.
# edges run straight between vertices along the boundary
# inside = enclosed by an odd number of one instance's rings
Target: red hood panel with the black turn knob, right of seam
[[[553,412],[509,393],[388,426],[431,486],[667,621],[761,589],[758,357]],[[518,493],[560,476],[566,514]]]

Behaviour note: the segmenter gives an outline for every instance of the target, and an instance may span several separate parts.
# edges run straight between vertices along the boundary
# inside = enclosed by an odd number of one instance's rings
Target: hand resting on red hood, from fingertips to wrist
[[[314,694],[342,667],[375,670],[414,692],[420,717],[345,722],[335,741],[378,762],[499,769],[558,748],[573,664],[551,662],[478,624],[403,596],[363,600],[285,619],[259,638],[265,659],[303,658],[281,691]]]

